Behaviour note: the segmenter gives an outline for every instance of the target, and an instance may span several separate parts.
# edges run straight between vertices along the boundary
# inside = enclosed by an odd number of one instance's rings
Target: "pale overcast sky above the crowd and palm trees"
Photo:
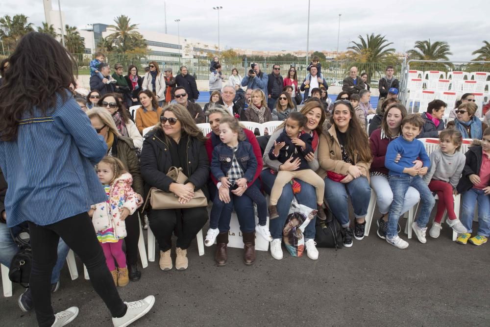
[[[221,49],[306,50],[308,0],[183,0],[166,1],[169,34],[218,43],[221,5]],[[383,5],[380,6],[380,3]],[[463,5],[464,4],[464,5]],[[57,6],[57,1],[54,1]],[[164,1],[159,0],[61,0],[66,24],[112,24],[124,14],[144,30],[165,31]],[[311,0],[310,50],[336,50],[339,14],[339,50],[345,50],[359,34],[386,35],[397,51],[413,48],[415,41],[446,41],[451,60],[471,60],[471,52],[489,40],[488,0]],[[42,0],[2,0],[1,15],[23,13],[34,25],[44,18]]]

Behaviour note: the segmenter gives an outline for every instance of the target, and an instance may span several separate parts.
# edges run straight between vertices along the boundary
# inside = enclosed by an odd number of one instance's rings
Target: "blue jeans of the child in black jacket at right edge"
[[[490,196],[485,192],[472,188],[462,194],[463,211],[461,212],[461,223],[471,233],[473,226],[473,215],[475,213],[476,202],[478,202],[478,235],[490,236]]]

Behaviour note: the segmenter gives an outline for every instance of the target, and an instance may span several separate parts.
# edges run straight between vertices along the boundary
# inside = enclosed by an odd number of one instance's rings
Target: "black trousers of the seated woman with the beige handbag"
[[[192,240],[208,220],[206,207],[150,210],[148,220],[160,251],[172,248],[172,233],[177,236],[177,248],[189,248]]]

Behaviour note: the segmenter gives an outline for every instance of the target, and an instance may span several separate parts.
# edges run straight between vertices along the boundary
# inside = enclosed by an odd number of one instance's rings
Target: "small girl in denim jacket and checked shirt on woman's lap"
[[[230,190],[238,187],[247,187],[247,183],[253,179],[257,170],[257,159],[253,153],[252,145],[245,142],[245,133],[235,117],[221,119],[220,139],[222,143],[213,150],[211,174]],[[269,228],[266,226],[266,198],[254,184],[246,188],[244,195],[257,204],[259,225],[255,226],[255,231],[267,241],[272,241]],[[225,202],[220,198],[220,192],[217,192],[211,207],[209,229],[204,241],[204,244],[208,247],[214,244],[216,237],[220,233],[218,225],[224,204]]]

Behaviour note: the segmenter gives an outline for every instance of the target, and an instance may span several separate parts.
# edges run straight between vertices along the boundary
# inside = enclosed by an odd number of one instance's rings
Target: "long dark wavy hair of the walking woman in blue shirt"
[[[45,33],[29,32],[20,40],[9,57],[0,88],[0,131],[2,141],[17,138],[19,122],[25,113],[33,115],[37,107],[43,115],[56,109],[56,100],[63,103],[72,95],[78,75],[71,53]]]

